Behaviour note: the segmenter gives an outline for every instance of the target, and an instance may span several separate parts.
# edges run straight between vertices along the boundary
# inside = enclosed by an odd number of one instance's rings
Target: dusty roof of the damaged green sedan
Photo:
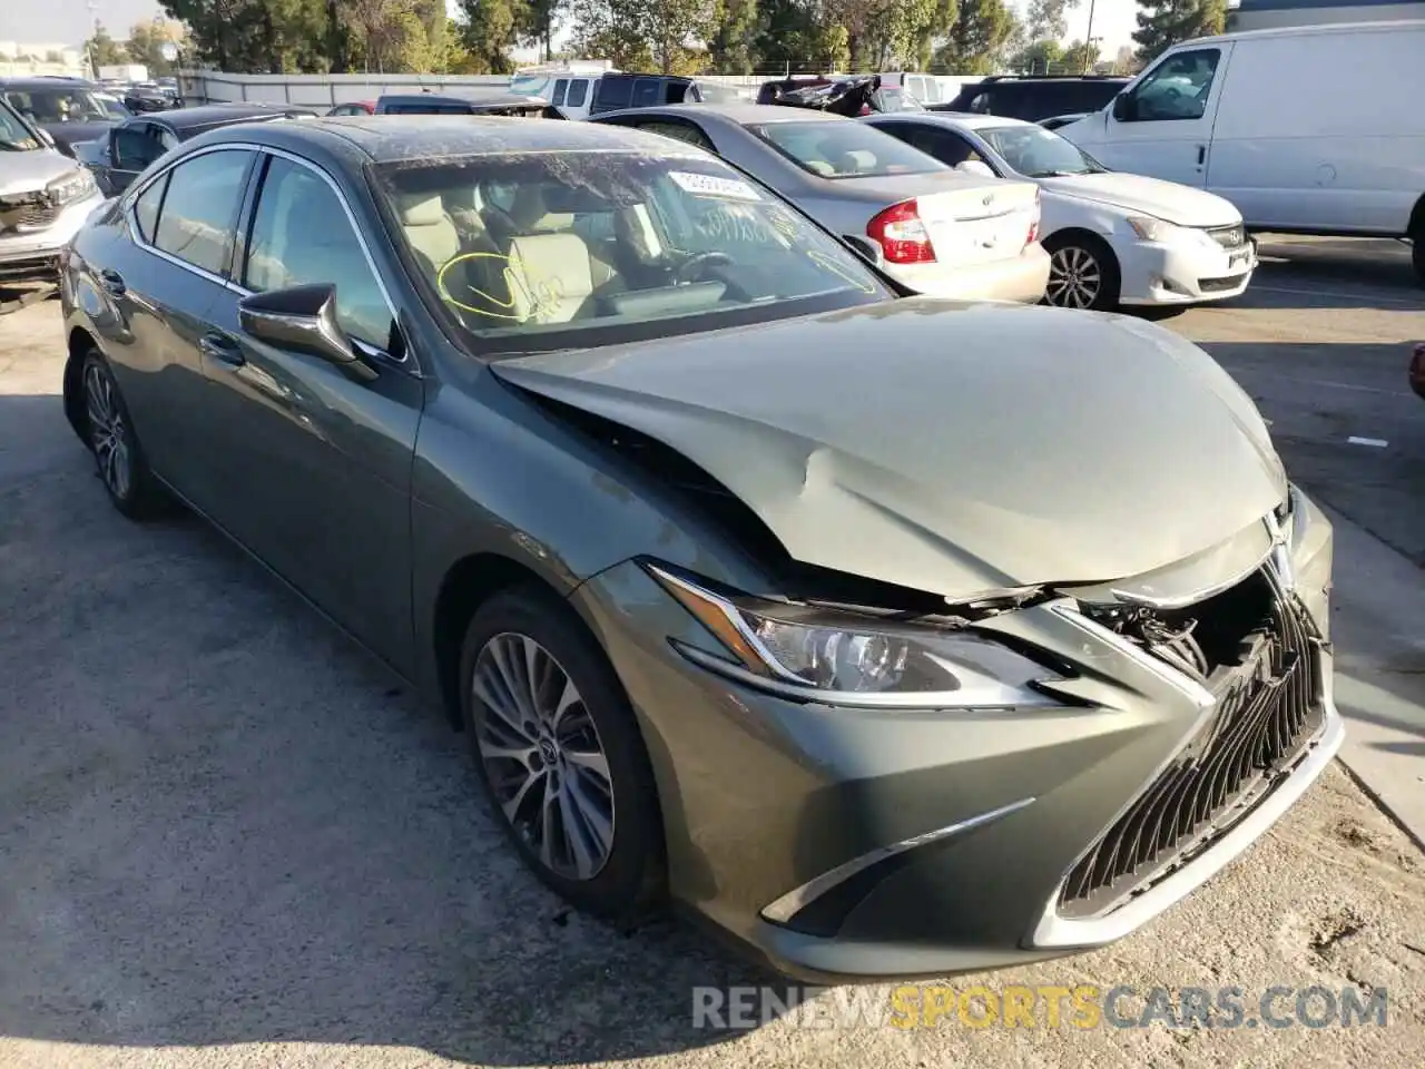
[[[680,148],[661,134],[596,123],[496,115],[328,115],[221,131],[207,140],[256,141],[296,153],[315,150],[375,162],[509,153],[653,153]],[[690,150],[691,151],[691,150]]]

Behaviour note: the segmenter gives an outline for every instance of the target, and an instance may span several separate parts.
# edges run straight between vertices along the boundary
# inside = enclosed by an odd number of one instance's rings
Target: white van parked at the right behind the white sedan
[[[1059,133],[1226,197],[1250,229],[1408,237],[1425,282],[1425,20],[1184,41]]]

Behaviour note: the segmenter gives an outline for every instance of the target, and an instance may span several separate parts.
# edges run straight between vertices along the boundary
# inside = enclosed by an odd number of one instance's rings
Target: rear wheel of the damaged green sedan
[[[124,395],[98,349],[84,353],[80,385],[86,443],[94,453],[110,502],[131,520],[161,516],[168,510],[170,500],[148,468]]]

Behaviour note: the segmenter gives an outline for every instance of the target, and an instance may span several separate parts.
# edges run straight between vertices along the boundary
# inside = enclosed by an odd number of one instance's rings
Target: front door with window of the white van
[[[1083,147],[1114,171],[1204,185],[1231,48],[1214,44],[1170,53],[1103,114],[1103,140],[1082,141]]]

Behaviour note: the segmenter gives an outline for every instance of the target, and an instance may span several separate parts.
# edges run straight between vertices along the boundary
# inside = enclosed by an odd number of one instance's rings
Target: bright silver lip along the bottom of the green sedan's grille
[[[1345,740],[1345,723],[1330,693],[1324,696],[1324,707],[1325,723],[1297,767],[1213,847],[1103,916],[1082,919],[1060,916],[1057,908],[1059,894],[1063,889],[1060,884],[1049,897],[1049,904],[1026,945],[1033,949],[1063,951],[1103,946],[1143,926],[1217,875],[1305,794],[1341,748]]]

